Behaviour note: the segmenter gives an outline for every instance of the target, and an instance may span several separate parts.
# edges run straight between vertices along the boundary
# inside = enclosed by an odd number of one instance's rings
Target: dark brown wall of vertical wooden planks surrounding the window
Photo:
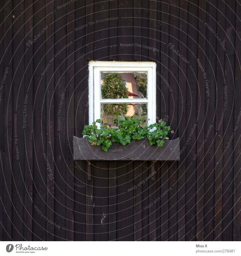
[[[240,241],[240,0],[73,0],[58,8],[67,2],[0,2],[1,81],[8,68],[0,240]],[[156,77],[157,115],[168,115],[173,138],[186,148],[179,163],[155,163],[155,180],[147,179],[149,162],[92,162],[91,180],[86,162],[74,163],[73,136],[88,122],[89,60],[156,61],[167,81]]]

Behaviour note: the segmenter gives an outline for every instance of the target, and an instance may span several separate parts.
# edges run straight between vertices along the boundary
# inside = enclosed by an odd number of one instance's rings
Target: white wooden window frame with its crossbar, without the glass
[[[147,72],[147,99],[101,99],[101,72]],[[147,103],[148,125],[156,122],[156,63],[89,62],[89,125],[101,118],[101,103]]]

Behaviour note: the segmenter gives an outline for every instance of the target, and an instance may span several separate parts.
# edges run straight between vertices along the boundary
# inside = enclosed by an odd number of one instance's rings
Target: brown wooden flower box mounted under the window
[[[138,160],[138,161],[179,161],[179,138],[166,140],[163,147],[150,146],[147,139],[135,140],[123,146],[113,143],[108,152],[92,146],[87,139],[74,136],[74,160]]]

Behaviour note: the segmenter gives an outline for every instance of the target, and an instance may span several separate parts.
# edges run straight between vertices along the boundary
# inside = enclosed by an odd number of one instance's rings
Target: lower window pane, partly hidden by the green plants
[[[103,124],[109,125],[111,128],[116,128],[114,125],[114,119],[116,117],[131,117],[133,115],[135,115],[135,118],[144,116],[147,122],[147,104],[101,104],[101,119]]]

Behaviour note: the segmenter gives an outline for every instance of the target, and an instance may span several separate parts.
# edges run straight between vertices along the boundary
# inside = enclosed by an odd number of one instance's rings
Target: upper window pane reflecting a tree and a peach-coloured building
[[[101,72],[102,99],[147,99],[147,73]]]

